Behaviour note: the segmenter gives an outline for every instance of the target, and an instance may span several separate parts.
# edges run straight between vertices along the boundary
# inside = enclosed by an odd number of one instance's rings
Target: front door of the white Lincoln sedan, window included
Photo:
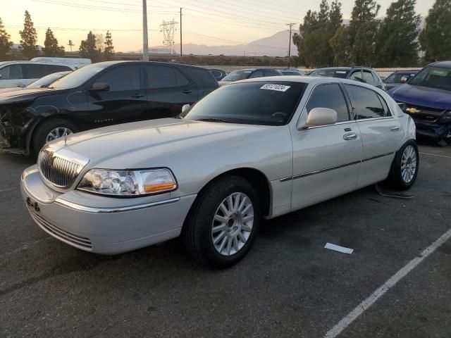
[[[293,132],[292,210],[357,189],[362,137],[340,84],[315,87],[302,114],[313,108],[335,110],[338,121]]]

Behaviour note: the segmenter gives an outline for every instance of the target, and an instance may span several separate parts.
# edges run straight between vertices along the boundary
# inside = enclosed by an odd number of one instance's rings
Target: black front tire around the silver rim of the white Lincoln
[[[231,194],[242,193],[252,201],[254,220],[252,231],[241,249],[230,256],[215,249],[212,239],[214,216],[221,203]],[[183,225],[182,239],[188,253],[209,268],[228,268],[246,256],[254,244],[261,222],[260,201],[255,189],[239,176],[227,175],[207,185],[197,196]]]

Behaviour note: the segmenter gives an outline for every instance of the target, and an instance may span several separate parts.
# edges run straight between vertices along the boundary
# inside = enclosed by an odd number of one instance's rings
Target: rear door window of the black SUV
[[[146,65],[148,89],[161,89],[186,86],[190,84],[185,75],[165,65]]]

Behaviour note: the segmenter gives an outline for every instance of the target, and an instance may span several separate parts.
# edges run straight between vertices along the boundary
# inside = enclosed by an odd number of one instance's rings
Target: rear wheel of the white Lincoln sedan
[[[411,139],[397,151],[387,183],[398,190],[407,190],[416,180],[419,170],[419,153],[416,142]]]

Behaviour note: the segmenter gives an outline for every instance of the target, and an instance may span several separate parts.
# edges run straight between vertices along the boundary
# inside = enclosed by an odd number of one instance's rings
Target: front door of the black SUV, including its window
[[[108,84],[109,90],[89,91],[96,82]],[[87,89],[89,114],[85,119],[94,127],[141,120],[146,113],[147,98],[139,64],[108,68],[95,77]]]

